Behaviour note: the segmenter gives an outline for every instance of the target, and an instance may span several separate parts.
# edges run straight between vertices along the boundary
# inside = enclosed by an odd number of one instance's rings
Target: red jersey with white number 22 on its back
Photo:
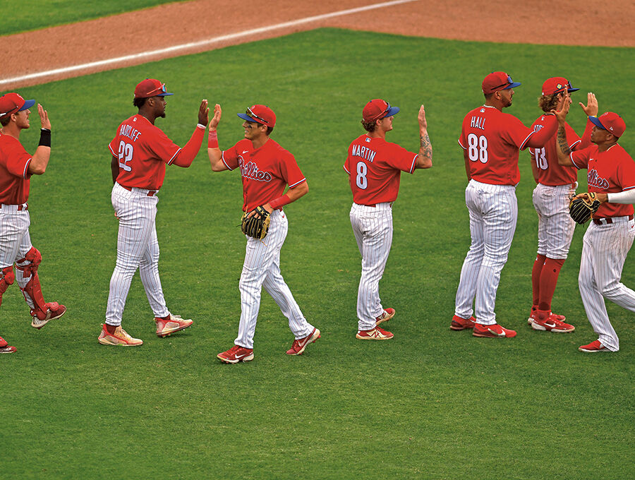
[[[108,148],[119,159],[117,183],[148,190],[161,188],[165,164],[171,164],[181,151],[161,128],[139,114],[119,125]]]

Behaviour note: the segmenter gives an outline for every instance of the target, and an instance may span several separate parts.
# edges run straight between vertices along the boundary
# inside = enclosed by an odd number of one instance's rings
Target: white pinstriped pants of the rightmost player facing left
[[[584,234],[578,284],[588,321],[600,342],[612,352],[619,350],[619,338],[613,329],[604,299],[635,312],[635,292],[620,278],[635,238],[635,220],[614,217],[612,224],[593,222]]]

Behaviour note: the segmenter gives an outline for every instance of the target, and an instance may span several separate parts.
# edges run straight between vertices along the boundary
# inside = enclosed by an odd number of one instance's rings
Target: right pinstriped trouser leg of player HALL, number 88
[[[518,205],[514,188],[491,188],[482,198],[485,251],[476,278],[474,310],[478,323],[493,325],[496,323],[494,308],[500,272],[514,239]]]

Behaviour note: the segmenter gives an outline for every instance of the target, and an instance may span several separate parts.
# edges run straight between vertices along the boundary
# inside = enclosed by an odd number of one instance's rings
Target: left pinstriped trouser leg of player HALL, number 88
[[[461,267],[461,280],[459,280],[459,288],[456,289],[454,316],[469,319],[473,314],[476,280],[485,253],[483,236],[485,223],[480,205],[480,195],[478,188],[472,183],[468,184],[466,188],[465,201],[470,215],[471,245]]]

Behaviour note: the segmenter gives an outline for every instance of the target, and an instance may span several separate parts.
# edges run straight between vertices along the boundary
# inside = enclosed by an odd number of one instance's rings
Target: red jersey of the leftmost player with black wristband
[[[0,203],[20,205],[29,199],[31,155],[18,139],[0,134]]]

